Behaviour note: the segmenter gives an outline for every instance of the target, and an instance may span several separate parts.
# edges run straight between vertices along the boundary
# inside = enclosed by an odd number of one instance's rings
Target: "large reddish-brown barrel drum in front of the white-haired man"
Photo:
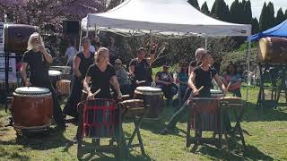
[[[47,128],[53,115],[53,99],[49,89],[18,88],[13,92],[12,116],[15,129]]]

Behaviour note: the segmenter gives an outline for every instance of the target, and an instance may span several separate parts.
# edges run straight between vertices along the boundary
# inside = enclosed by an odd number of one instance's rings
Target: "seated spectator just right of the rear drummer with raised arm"
[[[171,91],[173,78],[171,73],[169,72],[169,68],[170,68],[169,64],[163,64],[162,72],[157,72],[154,78],[156,87],[162,89],[164,96],[167,98],[168,105],[170,105],[173,97]]]

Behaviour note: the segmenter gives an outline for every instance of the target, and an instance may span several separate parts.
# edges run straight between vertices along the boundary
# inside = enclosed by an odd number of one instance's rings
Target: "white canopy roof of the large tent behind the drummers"
[[[187,0],[126,0],[106,13],[89,13],[82,28],[117,29],[119,32],[151,30],[163,35],[250,36],[251,25],[213,19]]]

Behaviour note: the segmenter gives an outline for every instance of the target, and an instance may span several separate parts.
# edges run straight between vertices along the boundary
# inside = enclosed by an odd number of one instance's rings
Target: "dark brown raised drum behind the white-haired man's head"
[[[24,24],[4,24],[4,51],[22,53],[27,50],[30,35],[38,27]]]

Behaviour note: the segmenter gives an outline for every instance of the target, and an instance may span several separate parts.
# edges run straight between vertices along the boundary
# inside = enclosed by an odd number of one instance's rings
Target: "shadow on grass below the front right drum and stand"
[[[273,157],[265,155],[258,148],[248,145],[243,154],[236,154],[225,149],[213,148],[208,145],[198,149],[198,152],[220,160],[274,160]]]

